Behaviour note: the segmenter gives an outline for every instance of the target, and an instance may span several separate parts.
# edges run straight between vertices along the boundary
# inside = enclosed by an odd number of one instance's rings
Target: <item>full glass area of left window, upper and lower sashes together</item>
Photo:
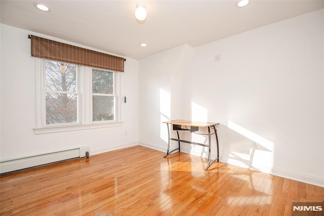
[[[78,123],[77,65],[45,60],[46,125]]]

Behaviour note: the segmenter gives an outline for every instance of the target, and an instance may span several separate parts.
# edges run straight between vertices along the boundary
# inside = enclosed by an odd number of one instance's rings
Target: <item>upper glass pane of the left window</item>
[[[46,90],[76,92],[76,65],[46,60]]]

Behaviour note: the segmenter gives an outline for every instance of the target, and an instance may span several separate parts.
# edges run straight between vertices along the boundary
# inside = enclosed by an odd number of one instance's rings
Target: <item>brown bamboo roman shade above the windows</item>
[[[31,35],[31,56],[124,72],[124,58]]]

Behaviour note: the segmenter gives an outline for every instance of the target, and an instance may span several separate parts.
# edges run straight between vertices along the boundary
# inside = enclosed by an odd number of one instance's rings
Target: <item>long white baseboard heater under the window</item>
[[[21,169],[42,166],[73,158],[89,157],[89,146],[77,147],[75,149],[62,150],[58,152],[34,155],[24,158],[16,158],[0,161],[0,174],[10,173]]]

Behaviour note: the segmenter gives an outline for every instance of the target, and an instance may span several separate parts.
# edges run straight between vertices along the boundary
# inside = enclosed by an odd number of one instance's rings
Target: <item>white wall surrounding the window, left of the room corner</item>
[[[138,61],[130,58],[121,75],[121,95],[127,96],[121,104],[123,126],[34,134],[35,58],[28,34],[50,38],[1,24],[1,160],[84,145],[90,154],[138,145]]]

